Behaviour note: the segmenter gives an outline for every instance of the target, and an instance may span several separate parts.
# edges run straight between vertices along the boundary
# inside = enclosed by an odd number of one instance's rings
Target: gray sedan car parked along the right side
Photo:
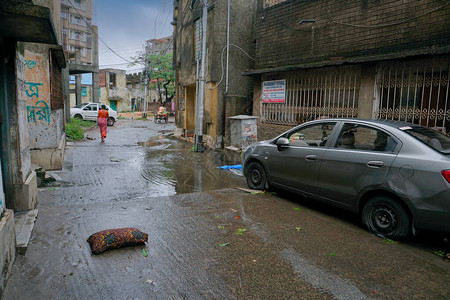
[[[253,189],[269,186],[357,212],[391,239],[450,232],[450,138],[410,123],[325,119],[244,152]]]

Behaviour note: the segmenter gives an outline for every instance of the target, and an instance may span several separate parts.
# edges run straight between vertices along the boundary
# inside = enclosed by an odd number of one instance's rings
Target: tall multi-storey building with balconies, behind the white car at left
[[[69,74],[76,77],[75,102],[82,100],[81,74],[92,74],[92,89],[99,90],[98,67],[98,27],[92,24],[92,0],[60,0],[62,42],[69,62]],[[67,79],[68,81],[68,79]],[[66,86],[65,98],[69,102],[69,86]],[[92,93],[87,102],[99,102],[99,94]],[[69,108],[69,103],[67,105]]]

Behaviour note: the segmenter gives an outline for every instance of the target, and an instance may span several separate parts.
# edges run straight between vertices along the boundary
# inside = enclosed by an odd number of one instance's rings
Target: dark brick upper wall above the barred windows
[[[450,5],[446,3],[287,0],[261,8],[256,25],[255,68],[450,52]],[[431,10],[435,11],[425,14]],[[300,25],[302,19],[315,22]],[[390,24],[396,25],[385,26]]]

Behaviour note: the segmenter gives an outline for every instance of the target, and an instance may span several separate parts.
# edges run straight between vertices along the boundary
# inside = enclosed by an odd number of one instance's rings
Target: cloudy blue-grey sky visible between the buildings
[[[111,49],[131,60],[143,49],[146,40],[172,34],[173,0],[92,0],[93,24]],[[100,68],[139,72],[140,66],[128,66],[99,40]]]

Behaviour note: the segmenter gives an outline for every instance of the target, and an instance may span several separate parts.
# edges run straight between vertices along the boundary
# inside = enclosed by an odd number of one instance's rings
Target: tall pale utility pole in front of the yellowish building
[[[206,32],[208,26],[208,0],[201,0],[203,5],[203,15],[202,15],[202,60],[200,67],[200,77],[199,77],[199,97],[197,101],[198,105],[198,116],[197,116],[197,128],[196,128],[196,145],[195,149],[197,152],[203,152],[205,146],[203,145],[203,114],[204,114],[204,103],[205,103],[205,69],[206,69]]]

